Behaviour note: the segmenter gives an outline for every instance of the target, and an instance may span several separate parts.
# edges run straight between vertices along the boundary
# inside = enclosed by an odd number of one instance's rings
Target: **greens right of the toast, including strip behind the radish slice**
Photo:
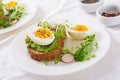
[[[95,34],[87,36],[85,40],[82,40],[82,43],[80,45],[81,47],[76,48],[75,51],[71,49],[63,49],[62,53],[73,54],[76,62],[83,62],[95,57],[95,54],[92,52],[98,48]]]

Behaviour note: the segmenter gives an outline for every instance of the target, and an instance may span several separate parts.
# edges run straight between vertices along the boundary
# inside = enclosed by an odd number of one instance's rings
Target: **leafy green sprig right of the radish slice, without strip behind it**
[[[90,53],[94,49],[94,46],[97,48],[98,43],[95,41],[95,34],[87,36],[86,40],[81,44],[81,48],[77,50],[74,54],[75,61],[82,62],[91,58]]]

